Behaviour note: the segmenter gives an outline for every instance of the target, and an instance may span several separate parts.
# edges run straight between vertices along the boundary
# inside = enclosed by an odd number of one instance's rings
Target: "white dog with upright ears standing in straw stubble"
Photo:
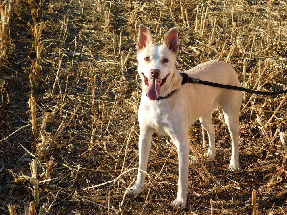
[[[179,178],[177,197],[172,204],[185,208],[189,165],[188,129],[200,120],[208,133],[207,156],[215,158],[215,128],[211,122],[212,112],[222,108],[225,122],[232,139],[229,169],[239,169],[239,109],[242,92],[186,83],[175,67],[179,51],[178,28],[170,29],[162,45],[155,45],[152,34],[144,25],[139,26],[137,42],[138,73],[142,80],[142,95],[138,111],[139,168],[135,185],[127,194],[137,195],[144,190],[144,180],[153,132],[169,135],[177,148]],[[226,85],[241,86],[236,71],[228,63],[208,61],[185,71],[189,77]]]

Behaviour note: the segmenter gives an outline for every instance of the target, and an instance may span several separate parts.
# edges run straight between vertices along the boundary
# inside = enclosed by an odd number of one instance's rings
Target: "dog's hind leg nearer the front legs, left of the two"
[[[212,112],[213,110],[202,115],[199,118],[199,121],[208,134],[207,157],[213,160],[215,158],[215,128],[211,122]]]

